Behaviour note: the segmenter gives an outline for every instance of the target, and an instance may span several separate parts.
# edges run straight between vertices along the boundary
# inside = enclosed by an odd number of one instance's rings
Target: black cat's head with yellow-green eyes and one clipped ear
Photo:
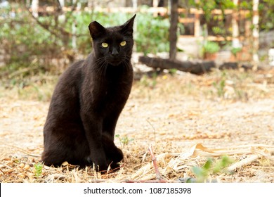
[[[97,21],[89,24],[89,32],[93,40],[96,58],[111,65],[119,65],[129,61],[133,48],[133,21],[136,15],[124,25],[103,27]]]

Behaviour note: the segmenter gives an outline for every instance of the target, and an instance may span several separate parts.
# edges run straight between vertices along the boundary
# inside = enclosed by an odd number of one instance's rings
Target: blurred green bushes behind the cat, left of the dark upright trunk
[[[88,25],[97,20],[105,27],[122,25],[131,13],[98,13],[93,11],[43,13],[39,18],[20,4],[1,9],[0,53],[8,54],[0,66],[0,78],[23,79],[37,72],[59,74],[63,69],[92,50]],[[64,15],[62,15],[64,14]],[[72,25],[75,24],[72,32]],[[169,51],[169,20],[139,13],[134,34],[136,51],[157,53]],[[150,28],[148,28],[150,27]],[[73,47],[72,37],[76,38]],[[63,60],[63,61],[58,61]],[[14,81],[14,80],[13,80]]]

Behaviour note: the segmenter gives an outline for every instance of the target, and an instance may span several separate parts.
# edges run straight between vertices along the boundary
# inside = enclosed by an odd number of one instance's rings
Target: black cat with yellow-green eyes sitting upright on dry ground
[[[115,127],[133,82],[133,21],[103,27],[90,23],[93,52],[68,68],[56,85],[44,125],[45,165],[117,167],[122,151],[114,144]]]

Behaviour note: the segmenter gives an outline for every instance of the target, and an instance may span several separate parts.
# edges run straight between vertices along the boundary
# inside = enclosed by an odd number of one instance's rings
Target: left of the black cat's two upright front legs
[[[107,170],[107,159],[102,144],[102,121],[85,113],[81,113],[81,120],[89,144],[91,162],[95,165],[96,171]]]

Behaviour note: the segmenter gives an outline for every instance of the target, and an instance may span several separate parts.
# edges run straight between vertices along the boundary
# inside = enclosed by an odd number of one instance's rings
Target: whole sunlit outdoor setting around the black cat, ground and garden
[[[89,23],[135,13],[122,170],[43,167],[49,101],[91,53]],[[149,144],[170,182],[274,182],[273,101],[274,0],[0,0],[0,182],[157,181]]]

